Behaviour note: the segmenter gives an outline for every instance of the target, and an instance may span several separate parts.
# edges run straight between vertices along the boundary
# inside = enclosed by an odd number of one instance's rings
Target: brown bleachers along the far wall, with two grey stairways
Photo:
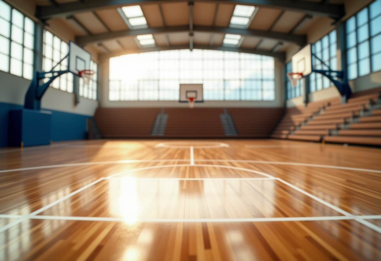
[[[228,133],[220,114],[232,120]],[[94,119],[104,138],[267,138],[282,114],[282,108],[98,108]]]

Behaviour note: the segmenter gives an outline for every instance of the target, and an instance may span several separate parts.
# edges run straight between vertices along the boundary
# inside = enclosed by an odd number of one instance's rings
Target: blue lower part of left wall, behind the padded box
[[[0,102],[0,147],[7,147],[9,140],[9,111],[21,110],[22,105]],[[86,119],[82,114],[51,111],[51,139],[53,141],[86,139]]]

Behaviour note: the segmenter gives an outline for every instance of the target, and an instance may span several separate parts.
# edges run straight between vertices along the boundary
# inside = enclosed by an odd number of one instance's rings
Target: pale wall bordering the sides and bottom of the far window
[[[130,108],[163,108],[187,107],[187,103],[178,101],[109,101],[109,60],[101,64],[101,106],[102,107],[130,107]],[[195,107],[283,107],[283,63],[275,60],[275,100],[274,101],[204,101],[196,103]]]

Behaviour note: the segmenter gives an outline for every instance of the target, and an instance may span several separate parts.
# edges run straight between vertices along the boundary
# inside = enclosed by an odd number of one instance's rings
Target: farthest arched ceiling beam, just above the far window
[[[229,52],[240,52],[240,53],[252,53],[257,55],[266,55],[277,58],[280,61],[284,61],[286,58],[285,53],[281,52],[271,52],[263,50],[253,50],[246,48],[234,48],[234,47],[225,47],[225,46],[208,46],[208,45],[194,45],[194,49],[206,49],[206,50],[218,50],[218,51],[229,51]],[[178,45],[178,46],[155,46],[150,48],[140,48],[140,49],[130,49],[127,51],[112,52],[112,53],[100,53],[99,61],[107,60],[111,57],[126,55],[131,53],[145,53],[145,52],[157,52],[157,51],[166,51],[166,50],[180,50],[180,49],[189,49],[189,45]]]

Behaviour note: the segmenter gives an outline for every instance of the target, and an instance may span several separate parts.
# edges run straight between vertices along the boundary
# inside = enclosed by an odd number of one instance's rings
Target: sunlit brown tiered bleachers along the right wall
[[[271,137],[381,145],[380,93],[377,88],[355,93],[345,104],[335,98],[289,108]]]

